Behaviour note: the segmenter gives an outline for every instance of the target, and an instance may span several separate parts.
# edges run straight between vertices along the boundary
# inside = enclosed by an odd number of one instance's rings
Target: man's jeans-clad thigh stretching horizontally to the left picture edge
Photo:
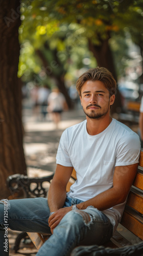
[[[9,228],[25,232],[50,232],[49,207],[46,198],[28,198],[8,201]],[[4,222],[4,203],[0,201],[0,223]]]

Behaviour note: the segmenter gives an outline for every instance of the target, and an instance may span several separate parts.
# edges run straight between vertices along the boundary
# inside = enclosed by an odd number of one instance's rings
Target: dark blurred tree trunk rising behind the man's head
[[[117,74],[108,40],[109,38],[107,38],[106,40],[101,40],[101,44],[97,46],[94,45],[93,42],[89,39],[89,49],[91,52],[93,52],[94,57],[97,60],[98,66],[108,69],[117,81]],[[116,100],[115,103],[112,105],[111,113],[119,113],[121,111],[121,108],[121,95],[117,87]]]

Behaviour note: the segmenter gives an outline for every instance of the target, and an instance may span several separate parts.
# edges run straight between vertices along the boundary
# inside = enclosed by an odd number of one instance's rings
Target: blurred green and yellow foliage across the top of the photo
[[[119,75],[129,58],[126,28],[135,44],[142,44],[141,0],[35,0],[27,4],[23,1],[21,12],[18,75],[24,79],[30,79],[31,74],[39,74],[43,69],[37,49],[43,53],[50,68],[52,60],[56,61],[58,68],[52,69],[52,75],[66,74],[65,78],[74,81],[76,70],[96,66],[88,49],[88,38],[94,45],[111,38],[109,43]]]

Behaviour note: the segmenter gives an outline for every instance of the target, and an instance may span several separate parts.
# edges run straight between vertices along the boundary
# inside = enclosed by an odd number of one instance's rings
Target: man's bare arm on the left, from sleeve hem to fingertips
[[[51,212],[49,217],[49,227],[52,229],[57,226],[71,207],[63,207],[66,200],[66,186],[71,177],[73,167],[66,167],[58,164],[56,166],[53,180],[48,191],[48,206]]]

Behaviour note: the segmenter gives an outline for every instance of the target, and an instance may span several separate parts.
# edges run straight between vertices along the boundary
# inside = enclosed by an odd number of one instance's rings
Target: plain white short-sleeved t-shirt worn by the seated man
[[[125,124],[112,119],[100,134],[91,136],[87,132],[87,120],[66,129],[61,136],[56,163],[73,166],[77,180],[67,195],[87,201],[113,185],[115,166],[138,163],[140,140]],[[125,203],[103,210],[116,227],[121,221]]]

